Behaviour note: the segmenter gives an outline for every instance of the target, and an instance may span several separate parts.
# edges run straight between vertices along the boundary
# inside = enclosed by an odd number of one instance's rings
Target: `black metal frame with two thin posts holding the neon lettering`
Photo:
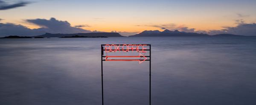
[[[111,57],[135,57],[135,58],[142,58],[144,57],[145,59],[125,59],[125,60],[107,60],[108,57],[110,56],[104,56],[104,50],[107,51],[106,49],[104,49],[103,46],[106,45],[120,45],[120,46],[124,46],[124,45],[145,45],[145,46],[149,46],[149,49],[139,49],[138,50],[147,50],[149,51],[149,56],[144,56],[144,55],[139,55],[139,56],[111,56]],[[112,48],[112,47],[111,47]],[[116,47],[115,47],[116,48]],[[130,51],[131,49],[126,49],[128,51]],[[133,48],[132,48],[133,51]],[[105,58],[105,59],[104,59]],[[149,58],[149,59],[147,59]],[[104,91],[103,91],[103,61],[139,61],[140,64],[143,61],[149,61],[149,105],[151,105],[151,44],[101,44],[101,83],[102,83],[102,105],[104,105]]]

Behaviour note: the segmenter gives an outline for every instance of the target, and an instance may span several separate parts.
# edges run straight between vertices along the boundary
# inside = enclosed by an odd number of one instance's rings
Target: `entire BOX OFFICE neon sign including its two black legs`
[[[151,105],[151,44],[102,44],[101,45],[101,81],[103,95],[103,61],[149,61],[149,105]]]

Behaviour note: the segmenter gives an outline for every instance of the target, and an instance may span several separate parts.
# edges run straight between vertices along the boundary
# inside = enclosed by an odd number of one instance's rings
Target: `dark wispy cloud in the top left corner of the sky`
[[[20,1],[18,3],[9,4],[3,0],[0,0],[0,10],[7,10],[7,9],[12,9],[12,8],[22,7],[22,6],[26,6],[29,3],[31,3],[31,2]]]

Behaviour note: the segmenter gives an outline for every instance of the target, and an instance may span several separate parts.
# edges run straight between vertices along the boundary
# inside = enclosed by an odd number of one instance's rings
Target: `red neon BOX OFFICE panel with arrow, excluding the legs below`
[[[145,55],[150,50],[150,44],[102,44],[103,61],[149,61],[150,55]],[[108,54],[129,54],[129,55],[108,55]],[[132,53],[132,54],[131,54]],[[137,54],[136,54],[137,53]],[[144,53],[144,54],[141,54]],[[105,55],[106,54],[106,55]],[[134,55],[136,54],[136,55]]]

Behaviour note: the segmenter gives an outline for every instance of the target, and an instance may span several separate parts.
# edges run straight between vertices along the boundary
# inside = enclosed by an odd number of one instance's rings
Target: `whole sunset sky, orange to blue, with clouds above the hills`
[[[0,36],[165,29],[252,36],[255,11],[256,0],[0,0]]]

